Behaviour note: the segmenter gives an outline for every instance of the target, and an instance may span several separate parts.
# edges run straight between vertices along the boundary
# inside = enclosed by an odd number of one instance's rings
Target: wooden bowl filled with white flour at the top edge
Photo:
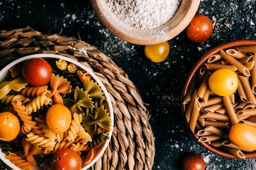
[[[169,1],[166,1],[166,4],[151,2],[154,4],[138,2],[137,6],[129,7],[132,3],[117,4],[113,0],[91,0],[99,21],[112,34],[138,45],[159,44],[171,40],[189,25],[200,4],[200,0],[175,0],[175,4]],[[151,11],[153,7],[155,10]]]

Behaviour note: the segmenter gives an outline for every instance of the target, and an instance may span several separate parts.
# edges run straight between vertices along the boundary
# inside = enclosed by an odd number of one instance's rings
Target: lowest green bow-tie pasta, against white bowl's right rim
[[[99,107],[95,111],[94,117],[92,114],[83,115],[82,117],[82,126],[90,135],[94,134],[97,130],[97,125],[103,129],[111,130],[111,122],[109,113],[104,109],[104,106]]]

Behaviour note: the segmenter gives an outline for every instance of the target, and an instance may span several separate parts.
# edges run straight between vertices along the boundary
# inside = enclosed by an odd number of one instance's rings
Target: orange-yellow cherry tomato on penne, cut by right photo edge
[[[249,124],[236,124],[229,131],[229,139],[241,148],[256,150],[256,127]]]

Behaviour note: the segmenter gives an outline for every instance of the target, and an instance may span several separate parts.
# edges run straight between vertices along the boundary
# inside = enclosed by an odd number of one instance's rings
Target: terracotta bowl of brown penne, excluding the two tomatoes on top
[[[229,130],[235,124],[248,123],[256,126],[254,115],[244,117],[241,114],[255,106],[256,95],[252,92],[255,88],[255,60],[255,40],[236,40],[221,44],[200,58],[184,84],[181,105],[186,127],[202,146],[222,157],[256,157],[255,150],[240,148],[228,137]],[[220,68],[229,68],[238,75],[238,89],[228,97],[214,94],[208,85],[211,73]],[[248,83],[249,86],[246,86]],[[243,94],[241,88],[247,94]]]

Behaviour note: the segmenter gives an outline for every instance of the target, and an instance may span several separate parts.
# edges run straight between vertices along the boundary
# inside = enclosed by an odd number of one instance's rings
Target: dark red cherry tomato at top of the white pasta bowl
[[[42,58],[32,58],[22,66],[22,75],[32,86],[45,86],[51,79],[52,66]]]

